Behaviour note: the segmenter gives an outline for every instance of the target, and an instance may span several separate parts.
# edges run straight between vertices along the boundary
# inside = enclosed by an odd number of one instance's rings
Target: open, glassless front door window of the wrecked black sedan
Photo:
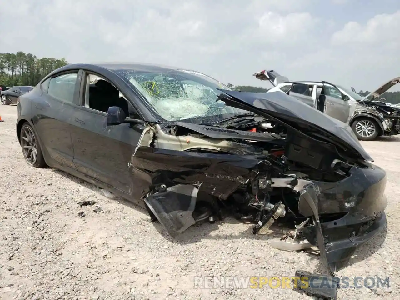
[[[127,117],[138,118],[136,110],[124,95],[108,80],[95,74],[88,74],[86,77],[84,106],[100,112],[107,112],[109,107],[118,106]]]

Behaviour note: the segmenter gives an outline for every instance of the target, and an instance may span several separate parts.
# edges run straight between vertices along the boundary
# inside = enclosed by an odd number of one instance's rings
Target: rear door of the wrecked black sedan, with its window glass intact
[[[56,74],[41,84],[42,95],[32,103],[33,120],[43,146],[56,162],[76,170],[70,134],[78,110],[82,71]]]

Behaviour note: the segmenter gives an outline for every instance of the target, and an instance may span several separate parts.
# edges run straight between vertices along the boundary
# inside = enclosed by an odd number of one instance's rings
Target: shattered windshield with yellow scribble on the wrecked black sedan
[[[246,111],[227,106],[218,100],[217,88],[230,90],[204,74],[190,70],[144,72],[125,70],[118,72],[124,80],[134,85],[150,106],[167,121],[207,118],[218,122],[227,116]]]

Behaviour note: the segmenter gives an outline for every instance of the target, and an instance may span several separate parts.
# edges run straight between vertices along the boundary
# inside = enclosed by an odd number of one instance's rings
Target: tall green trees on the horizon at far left
[[[38,58],[32,53],[0,53],[0,85],[36,86],[44,76],[67,65],[65,58]]]

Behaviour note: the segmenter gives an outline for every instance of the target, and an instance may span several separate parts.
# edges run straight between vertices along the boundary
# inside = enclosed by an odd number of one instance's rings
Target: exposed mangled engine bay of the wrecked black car
[[[155,148],[210,153],[215,154],[212,158],[216,160],[229,156],[232,162],[249,160],[254,164],[247,174],[232,170],[234,173],[229,175],[228,170],[213,170],[214,174],[204,172],[203,178],[193,180],[192,184],[203,196],[197,197],[192,223],[221,219],[220,209],[224,208],[237,219],[254,222],[254,233],[265,231],[274,219],[286,214],[290,218],[302,218],[298,200],[302,188],[312,183],[308,180],[337,182],[346,177],[349,165],[337,153],[316,145],[304,147],[304,141],[284,131],[278,134],[280,130],[274,125],[262,121],[265,120],[251,122],[250,126],[240,124],[242,130],[233,129],[237,125],[225,128],[187,123],[170,128],[156,126],[156,138],[152,141]],[[217,138],[221,131],[230,138]],[[166,190],[166,182],[154,188],[158,192]],[[185,229],[176,228],[170,234],[176,235]]]

